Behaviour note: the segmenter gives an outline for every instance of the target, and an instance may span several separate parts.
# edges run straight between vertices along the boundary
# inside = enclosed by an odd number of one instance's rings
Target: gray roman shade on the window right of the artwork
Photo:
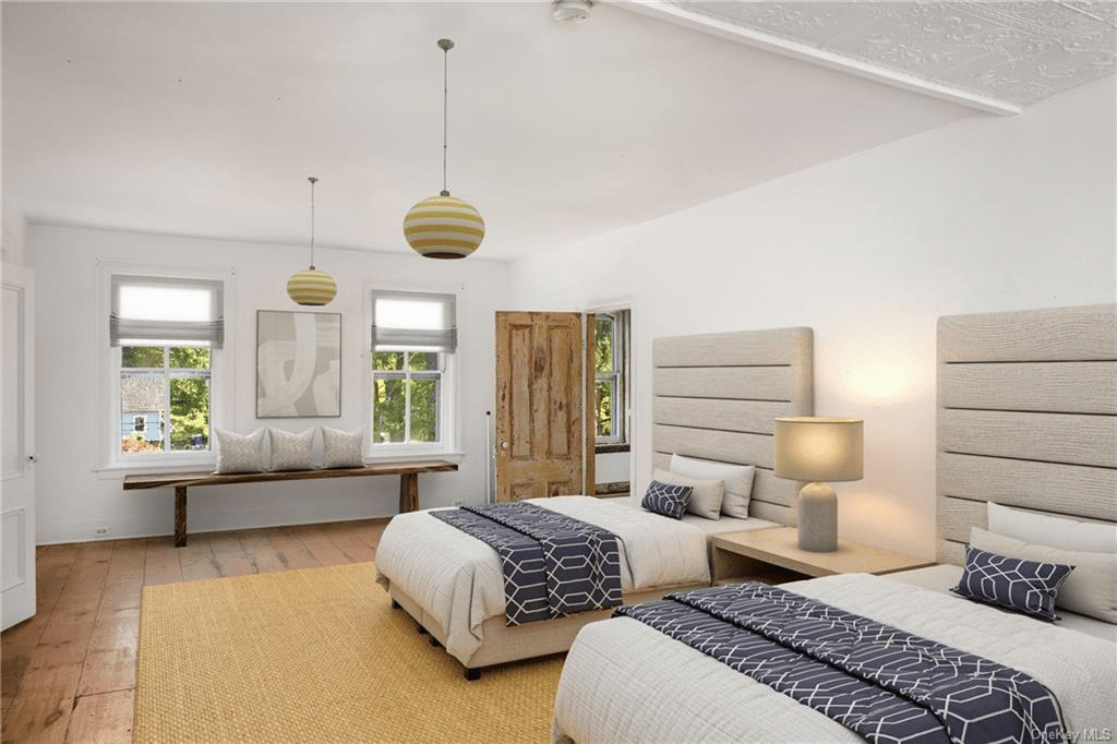
[[[458,346],[456,299],[454,295],[374,289],[372,351],[452,352]]]

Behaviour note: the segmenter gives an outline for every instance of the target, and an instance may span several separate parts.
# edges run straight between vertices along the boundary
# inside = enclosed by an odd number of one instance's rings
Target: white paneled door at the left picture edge
[[[0,614],[35,614],[35,302],[30,269],[0,266]]]

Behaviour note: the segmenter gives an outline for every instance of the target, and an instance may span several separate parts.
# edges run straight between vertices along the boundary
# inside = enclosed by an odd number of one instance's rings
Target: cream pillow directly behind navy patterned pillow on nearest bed
[[[1059,586],[1056,605],[1117,623],[1117,554],[1037,545],[981,527],[971,527],[970,544],[997,555],[1075,566]]]

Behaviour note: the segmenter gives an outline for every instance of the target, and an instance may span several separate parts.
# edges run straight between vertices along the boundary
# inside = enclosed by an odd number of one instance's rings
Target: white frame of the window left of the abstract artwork
[[[102,428],[101,462],[95,469],[104,471],[157,471],[183,468],[212,468],[217,465],[212,433],[228,429],[233,403],[233,297],[232,268],[202,266],[173,266],[166,264],[143,264],[134,261],[98,261],[98,307],[97,336],[101,347]],[[112,346],[108,333],[108,314],[113,306],[113,276],[136,276],[184,280],[218,280],[222,283],[222,313],[225,316],[225,342],[222,349],[210,349],[210,448],[207,450],[133,452],[121,451],[121,349]],[[173,344],[171,344],[173,345]]]

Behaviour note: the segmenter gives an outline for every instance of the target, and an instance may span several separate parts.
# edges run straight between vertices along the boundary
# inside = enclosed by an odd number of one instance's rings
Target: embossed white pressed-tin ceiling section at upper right
[[[1113,75],[1117,64],[1113,1],[655,4],[723,35],[782,40],[796,56],[814,50],[831,66],[844,60],[851,71],[992,99],[989,107],[1003,103],[1010,112]]]

